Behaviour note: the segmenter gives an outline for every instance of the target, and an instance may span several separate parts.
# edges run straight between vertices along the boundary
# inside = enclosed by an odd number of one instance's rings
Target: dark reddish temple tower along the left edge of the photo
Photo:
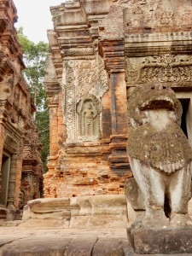
[[[20,219],[27,201],[41,197],[42,145],[32,120],[32,102],[12,0],[0,1],[0,223]],[[41,192],[42,191],[42,192]]]

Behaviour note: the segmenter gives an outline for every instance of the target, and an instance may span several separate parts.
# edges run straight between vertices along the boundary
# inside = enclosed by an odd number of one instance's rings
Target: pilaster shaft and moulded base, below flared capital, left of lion
[[[126,154],[127,141],[127,109],[126,109],[126,84],[125,70],[111,70],[111,112],[112,135],[109,156],[112,171],[120,176],[130,168]]]

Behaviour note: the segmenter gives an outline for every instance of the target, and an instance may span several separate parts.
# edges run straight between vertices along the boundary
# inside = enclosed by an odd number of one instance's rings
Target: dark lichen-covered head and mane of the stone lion
[[[155,89],[155,86],[157,87]],[[129,136],[127,151],[131,157],[143,161],[155,170],[171,174],[189,164],[192,149],[187,137],[178,125],[182,107],[173,90],[158,89],[162,84],[138,85],[128,103]],[[153,123],[146,121],[148,109],[168,108],[175,113],[160,131]]]

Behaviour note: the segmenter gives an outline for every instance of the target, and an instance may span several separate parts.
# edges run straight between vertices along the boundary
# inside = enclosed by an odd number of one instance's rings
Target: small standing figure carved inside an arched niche
[[[101,106],[96,96],[86,95],[79,102],[79,140],[95,141],[100,139]]]

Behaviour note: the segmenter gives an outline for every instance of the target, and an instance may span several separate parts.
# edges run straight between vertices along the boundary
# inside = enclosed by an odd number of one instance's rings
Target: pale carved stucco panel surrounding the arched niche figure
[[[97,55],[96,60],[91,61],[64,61],[61,87],[67,143],[82,139],[98,140],[101,113],[101,107],[98,107],[101,103],[98,102],[108,90],[108,73],[102,58]],[[80,107],[77,113],[78,104]]]

